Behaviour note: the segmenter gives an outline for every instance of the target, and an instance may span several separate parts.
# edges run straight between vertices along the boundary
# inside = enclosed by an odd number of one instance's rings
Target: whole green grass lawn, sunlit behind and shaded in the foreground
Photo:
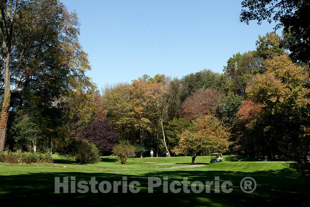
[[[300,206],[309,195],[309,180],[292,174],[285,162],[263,162],[254,158],[227,155],[222,163],[195,168],[173,168],[190,166],[191,157],[135,158],[126,165],[116,163],[112,156],[102,157],[102,162],[95,164],[75,164],[53,155],[53,164],[7,164],[0,163],[0,202],[6,205],[104,205],[104,206]],[[241,160],[241,162],[237,162]],[[209,156],[198,156],[196,164],[206,164]],[[65,166],[65,167],[64,167]],[[169,168],[169,169],[165,169]],[[138,181],[139,193],[54,193],[55,177],[76,177],[79,181],[96,177],[98,182],[122,181],[126,176],[128,183]],[[216,192],[211,186],[210,193],[163,193],[163,187],[154,188],[148,193],[148,177],[168,177],[168,183],[181,182],[188,177],[190,182],[214,181],[219,176],[223,181],[231,181],[232,192]],[[257,183],[253,193],[244,193],[240,189],[242,178],[250,176]],[[69,179],[70,181],[70,179]],[[189,187],[190,188],[190,187]],[[77,188],[78,189],[78,188]],[[70,191],[70,190],[69,190]],[[2,205],[1,205],[2,206]]]

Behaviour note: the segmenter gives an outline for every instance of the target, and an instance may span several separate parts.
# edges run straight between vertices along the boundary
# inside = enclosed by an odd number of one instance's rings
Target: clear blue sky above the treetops
[[[241,0],[61,1],[78,12],[87,75],[99,89],[143,74],[222,73],[232,54],[254,50],[258,35],[273,28],[240,23]]]

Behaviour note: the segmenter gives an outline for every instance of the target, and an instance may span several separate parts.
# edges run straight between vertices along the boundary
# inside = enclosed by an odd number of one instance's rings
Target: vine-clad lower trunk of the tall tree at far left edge
[[[5,44],[3,44],[5,45]],[[4,50],[4,94],[3,94],[3,105],[2,112],[0,117],[0,151],[4,150],[4,141],[7,132],[7,119],[9,117],[9,109],[10,109],[10,97],[11,97],[11,84],[10,84],[10,69],[9,69],[9,60],[10,60],[10,52],[9,48],[6,47]]]

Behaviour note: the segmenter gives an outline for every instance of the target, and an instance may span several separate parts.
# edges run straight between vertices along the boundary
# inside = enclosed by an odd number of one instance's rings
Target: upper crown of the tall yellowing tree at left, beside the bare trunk
[[[92,100],[95,86],[85,76],[90,66],[78,41],[80,24],[77,14],[69,12],[58,0],[18,0],[15,5],[19,17],[13,26],[9,64],[9,88],[15,86],[15,89],[11,92],[9,106],[6,106],[12,110],[37,108],[43,113],[62,111],[66,108],[62,107],[64,102],[71,101],[78,106],[71,109],[81,111],[85,101]],[[5,111],[2,110],[2,116],[6,115]],[[58,123],[63,122],[58,120]],[[53,126],[57,129],[49,129],[59,132],[59,124]],[[48,134],[54,138],[59,136]]]

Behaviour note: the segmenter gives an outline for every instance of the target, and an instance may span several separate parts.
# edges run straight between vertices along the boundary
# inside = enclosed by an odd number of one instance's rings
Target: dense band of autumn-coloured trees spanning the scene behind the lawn
[[[221,152],[309,162],[309,48],[292,20],[280,18],[282,35],[258,36],[254,51],[236,51],[221,74],[145,74],[99,90],[85,75],[76,13],[56,0],[1,2],[0,151],[69,154],[88,140],[101,155],[129,142],[139,157]],[[241,20],[259,11],[250,12]]]

